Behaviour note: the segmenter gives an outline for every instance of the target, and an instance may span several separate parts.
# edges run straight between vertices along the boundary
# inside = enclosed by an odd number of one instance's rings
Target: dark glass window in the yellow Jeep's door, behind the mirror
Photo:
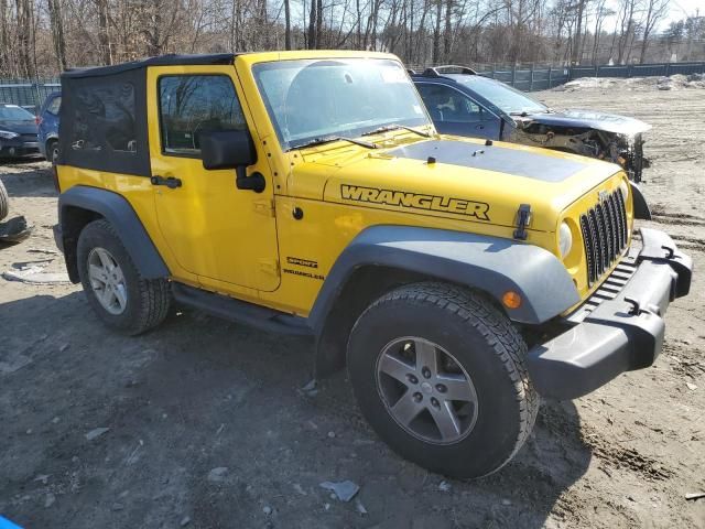
[[[246,127],[232,80],[225,75],[170,75],[159,80],[162,151],[197,158],[199,134]]]

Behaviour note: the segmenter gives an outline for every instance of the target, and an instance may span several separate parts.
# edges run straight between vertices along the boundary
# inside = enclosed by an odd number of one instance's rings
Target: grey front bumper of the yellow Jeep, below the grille
[[[650,366],[661,353],[663,315],[671,301],[688,293],[693,261],[662,231],[642,228],[641,238],[641,250],[566,319],[571,328],[529,350],[529,374],[543,397],[582,397],[621,373]]]

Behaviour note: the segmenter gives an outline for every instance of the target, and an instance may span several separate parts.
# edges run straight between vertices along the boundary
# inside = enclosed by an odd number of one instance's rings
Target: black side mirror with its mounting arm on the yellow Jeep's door
[[[235,169],[238,190],[264,191],[264,176],[261,173],[248,176],[246,172],[249,165],[257,162],[257,150],[249,130],[204,131],[199,140],[204,169]]]

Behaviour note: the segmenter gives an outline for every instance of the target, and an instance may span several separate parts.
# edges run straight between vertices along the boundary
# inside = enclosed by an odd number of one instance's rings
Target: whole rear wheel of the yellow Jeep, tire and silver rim
[[[88,303],[108,327],[135,335],[166,317],[169,282],[140,276],[110,223],[95,220],[83,229],[77,258]]]

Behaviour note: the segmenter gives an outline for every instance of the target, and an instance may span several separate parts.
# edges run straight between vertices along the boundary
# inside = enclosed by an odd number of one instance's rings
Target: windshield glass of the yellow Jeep
[[[279,61],[253,67],[284,149],[356,138],[383,126],[430,125],[423,102],[395,61]]]

